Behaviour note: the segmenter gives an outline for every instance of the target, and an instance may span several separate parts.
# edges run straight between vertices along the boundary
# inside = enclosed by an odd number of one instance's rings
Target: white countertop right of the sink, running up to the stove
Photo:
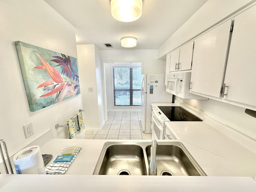
[[[165,122],[208,176],[256,176],[256,153],[202,122]],[[194,148],[194,149],[193,149]],[[200,150],[199,150],[200,149]]]

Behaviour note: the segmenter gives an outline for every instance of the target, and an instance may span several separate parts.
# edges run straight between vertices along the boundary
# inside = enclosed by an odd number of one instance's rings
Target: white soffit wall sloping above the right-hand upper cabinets
[[[242,6],[255,0],[208,0],[184,25],[182,25],[160,48],[158,58],[194,38],[204,30],[218,23]]]

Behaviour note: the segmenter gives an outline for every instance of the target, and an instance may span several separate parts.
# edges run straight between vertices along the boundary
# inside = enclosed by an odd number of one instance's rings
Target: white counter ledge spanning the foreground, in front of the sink
[[[1,192],[255,192],[250,177],[0,175]]]

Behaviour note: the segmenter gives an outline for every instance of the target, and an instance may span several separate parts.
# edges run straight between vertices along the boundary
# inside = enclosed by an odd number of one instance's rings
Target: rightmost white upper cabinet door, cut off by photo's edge
[[[256,106],[256,6],[234,18],[224,98]]]

